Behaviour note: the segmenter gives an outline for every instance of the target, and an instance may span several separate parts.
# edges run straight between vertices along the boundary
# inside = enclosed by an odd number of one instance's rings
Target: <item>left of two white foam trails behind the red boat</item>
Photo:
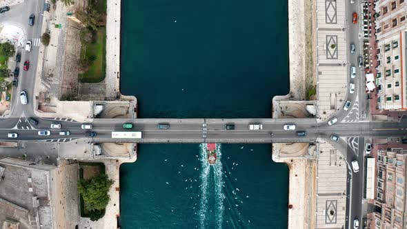
[[[201,161],[201,175],[199,176],[201,180],[201,199],[199,200],[199,228],[206,228],[205,221],[206,221],[206,212],[208,210],[208,180],[209,180],[209,172],[210,166],[208,163],[208,159],[206,158],[206,144],[202,143],[199,145],[199,161]]]

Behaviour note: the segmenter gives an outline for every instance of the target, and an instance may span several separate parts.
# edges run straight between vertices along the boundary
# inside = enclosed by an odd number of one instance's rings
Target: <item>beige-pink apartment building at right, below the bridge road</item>
[[[407,228],[406,163],[401,149],[377,151],[375,211],[368,214],[369,228]]]

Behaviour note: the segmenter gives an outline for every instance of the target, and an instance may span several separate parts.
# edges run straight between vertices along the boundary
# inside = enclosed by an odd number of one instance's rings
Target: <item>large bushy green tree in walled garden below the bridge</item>
[[[109,203],[108,191],[113,181],[106,175],[78,182],[78,192],[82,195],[86,210],[103,210]]]

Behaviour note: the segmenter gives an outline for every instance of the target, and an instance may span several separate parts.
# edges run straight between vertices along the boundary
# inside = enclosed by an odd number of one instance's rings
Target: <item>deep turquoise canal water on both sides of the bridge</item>
[[[121,92],[139,117],[270,117],[288,93],[286,1],[123,0]],[[270,145],[139,145],[121,166],[122,228],[286,228]]]

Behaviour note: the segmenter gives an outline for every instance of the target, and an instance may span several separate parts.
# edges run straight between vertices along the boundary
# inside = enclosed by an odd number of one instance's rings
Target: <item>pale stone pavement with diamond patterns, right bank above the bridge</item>
[[[321,119],[341,106],[348,90],[345,1],[317,0],[317,98]]]

